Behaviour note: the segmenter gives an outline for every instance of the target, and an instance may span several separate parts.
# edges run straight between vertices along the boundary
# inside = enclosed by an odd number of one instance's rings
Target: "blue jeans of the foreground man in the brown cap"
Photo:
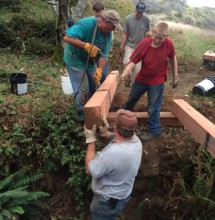
[[[115,220],[130,199],[130,195],[122,200],[105,200],[102,196],[94,194],[90,204],[92,220]]]

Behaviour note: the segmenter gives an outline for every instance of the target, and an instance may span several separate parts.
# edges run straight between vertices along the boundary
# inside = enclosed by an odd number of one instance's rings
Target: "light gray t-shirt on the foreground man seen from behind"
[[[92,190],[105,199],[125,199],[131,194],[142,158],[142,143],[133,135],[124,142],[114,139],[89,163]]]

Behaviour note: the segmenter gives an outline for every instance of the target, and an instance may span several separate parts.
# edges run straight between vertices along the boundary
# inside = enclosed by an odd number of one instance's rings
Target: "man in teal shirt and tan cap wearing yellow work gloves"
[[[121,30],[115,10],[101,17],[88,17],[66,30],[64,62],[69,73],[79,120],[84,120],[84,105],[98,87],[112,42],[111,31]]]

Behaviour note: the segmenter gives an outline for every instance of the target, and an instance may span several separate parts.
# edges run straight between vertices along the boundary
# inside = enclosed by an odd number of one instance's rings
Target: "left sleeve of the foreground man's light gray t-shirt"
[[[93,178],[99,179],[109,171],[109,166],[106,162],[105,155],[102,152],[97,152],[95,158],[88,164],[89,171]]]

